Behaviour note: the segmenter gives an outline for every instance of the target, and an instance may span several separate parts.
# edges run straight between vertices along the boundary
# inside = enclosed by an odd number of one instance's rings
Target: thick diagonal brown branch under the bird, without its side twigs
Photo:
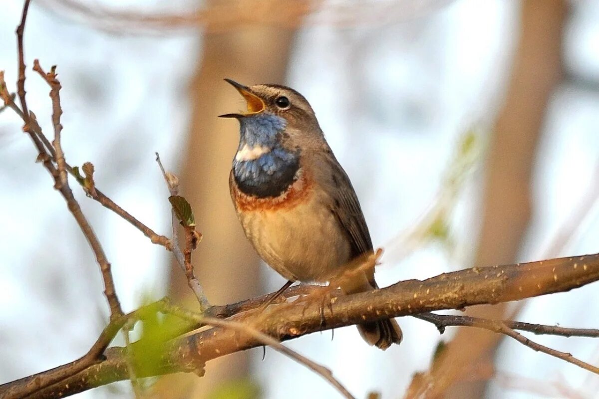
[[[261,317],[261,323],[256,328],[261,333],[283,341],[323,329],[389,317],[415,315],[432,310],[462,309],[474,304],[495,304],[564,292],[597,280],[599,254],[479,267],[446,273],[425,281],[402,281],[368,293],[333,296],[330,307],[327,306],[324,310],[322,301],[297,301],[295,306],[285,306],[281,312],[271,313],[270,317],[249,315],[244,321],[251,323],[252,317]],[[313,289],[318,290],[320,287]],[[256,304],[256,300],[251,301]],[[237,309],[243,307],[243,304],[237,304]],[[211,313],[210,310],[208,309],[208,314]],[[219,311],[223,312],[223,308]],[[132,344],[135,345],[138,343]],[[192,364],[197,364],[198,361],[209,361],[261,345],[261,342],[253,339],[240,342],[236,333],[215,327],[174,340],[165,349],[159,363],[151,365],[144,370],[145,374],[138,374],[138,377],[193,370]],[[109,348],[104,355],[107,358],[101,363],[78,373],[69,373],[69,377],[28,397],[64,397],[126,379],[128,374],[123,348]],[[57,369],[68,371],[68,367],[69,365],[65,365]],[[26,377],[19,380],[19,383],[31,382],[43,377],[45,373],[47,372]],[[0,386],[0,392],[12,384],[14,383]]]

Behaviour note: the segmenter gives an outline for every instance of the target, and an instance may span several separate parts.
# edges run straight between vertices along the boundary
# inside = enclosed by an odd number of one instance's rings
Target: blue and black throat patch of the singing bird
[[[299,168],[299,153],[283,148],[280,133],[286,121],[267,112],[239,119],[240,139],[237,151],[245,145],[269,151],[253,160],[233,159],[235,182],[243,193],[257,197],[277,197],[293,184]]]

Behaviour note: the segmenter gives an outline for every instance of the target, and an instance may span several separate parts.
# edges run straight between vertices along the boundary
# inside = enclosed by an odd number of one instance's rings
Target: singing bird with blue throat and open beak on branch
[[[326,284],[373,254],[358,197],[310,103],[279,84],[244,86],[240,139],[229,173],[235,211],[262,260],[293,282]],[[345,294],[378,289],[374,268],[340,279]],[[282,290],[279,290],[281,292]],[[369,345],[387,349],[403,334],[394,319],[357,325]]]

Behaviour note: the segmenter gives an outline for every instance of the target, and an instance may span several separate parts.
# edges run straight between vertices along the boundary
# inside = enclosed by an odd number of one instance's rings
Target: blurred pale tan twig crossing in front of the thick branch
[[[310,370],[314,371],[314,373],[318,374],[323,379],[331,383],[331,385],[334,386],[337,389],[337,391],[339,391],[340,394],[343,395],[344,398],[355,399],[355,397],[353,397],[353,395],[350,394],[349,391],[347,391],[347,389],[341,384],[341,382],[335,379],[332,371],[329,368],[326,368],[318,363],[315,363],[314,361],[311,361],[310,359],[304,357],[303,355],[299,354],[293,349],[290,349],[287,346],[283,345],[273,337],[261,333],[261,331],[256,330],[256,328],[253,328],[248,324],[243,324],[228,319],[223,320],[213,317],[202,316],[198,313],[189,312],[189,310],[184,310],[180,307],[173,306],[170,304],[167,304],[165,309],[176,316],[179,316],[184,319],[190,319],[196,323],[210,324],[216,327],[228,328],[230,330],[235,330],[239,333],[247,334],[253,339],[264,343],[264,345],[271,346],[275,351],[282,353],[283,355],[297,361],[299,364],[302,364]]]

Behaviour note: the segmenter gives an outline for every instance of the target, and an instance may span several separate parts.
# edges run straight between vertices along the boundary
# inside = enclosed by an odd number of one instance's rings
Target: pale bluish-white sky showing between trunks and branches
[[[144,4],[149,4],[146,2]],[[409,5],[409,2],[402,2]],[[104,0],[96,4],[130,2]],[[185,2],[153,1],[159,8]],[[431,2],[429,2],[431,4]],[[562,84],[550,103],[534,170],[534,214],[520,260],[536,260],[567,220],[591,182],[599,160],[599,2],[573,2],[564,43],[568,71],[587,84]],[[139,4],[138,4],[139,5]],[[352,178],[375,246],[387,249],[377,270],[380,285],[428,278],[470,266],[480,209],[480,173],[461,196],[452,230],[455,250],[429,245],[394,261],[395,237],[434,202],[459,137],[477,127],[485,142],[503,99],[518,32],[518,2],[456,0],[414,11],[376,28],[318,25],[299,32],[285,83],[310,101],[325,135]],[[16,81],[16,39],[22,3],[0,13],[0,69]],[[411,10],[411,11],[410,11]],[[58,64],[63,90],[63,147],[72,165],[96,166],[104,193],[159,233],[170,231],[167,191],[154,160],[176,169],[187,132],[186,90],[201,51],[195,31],[114,35],[97,31],[34,2],[26,31],[28,66]],[[247,84],[261,82],[247,82]],[[29,72],[28,103],[51,132],[46,83]],[[223,83],[223,90],[228,87]],[[356,96],[359,95],[359,101]],[[223,112],[229,112],[223,109]],[[215,115],[216,117],[216,115]],[[52,190],[35,151],[12,112],[0,114],[0,383],[74,360],[92,345],[106,322],[107,304],[92,252]],[[223,154],[232,157],[231,154]],[[125,310],[144,296],[165,294],[169,254],[152,245],[80,190],[84,212],[113,264]],[[599,251],[598,209],[585,219],[561,255]],[[200,229],[201,230],[201,229]],[[474,232],[474,233],[473,233]],[[126,245],[123,245],[126,244]],[[395,244],[397,245],[397,243]],[[279,279],[264,268],[264,278]],[[599,326],[599,291],[590,285],[531,300],[519,319],[571,327]],[[355,328],[313,334],[287,345],[334,370],[357,397],[371,390],[404,392],[412,374],[428,368],[439,336],[434,326],[398,319],[404,343],[386,352],[360,342]],[[591,339],[536,337],[537,342],[599,363]],[[329,398],[320,377],[268,350],[256,351],[256,378],[266,398]],[[595,397],[599,377],[504,342],[500,373],[567,383]],[[398,366],[398,362],[400,366]],[[590,377],[589,377],[590,376]],[[291,388],[290,388],[291,387]],[[77,398],[132,397],[128,383]],[[492,398],[534,398],[494,380]]]

